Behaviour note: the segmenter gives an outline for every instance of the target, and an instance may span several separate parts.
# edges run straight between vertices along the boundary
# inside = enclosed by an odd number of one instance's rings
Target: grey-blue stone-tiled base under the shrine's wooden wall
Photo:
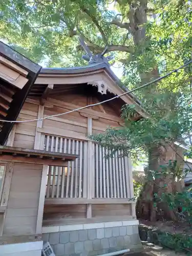
[[[104,227],[99,227],[100,223],[94,223],[91,225],[98,224],[98,228],[44,233],[42,239],[51,244],[56,256],[99,255],[122,249],[142,248],[138,225],[123,226],[123,222],[119,223],[121,226],[106,222]],[[83,226],[86,225],[89,224]]]

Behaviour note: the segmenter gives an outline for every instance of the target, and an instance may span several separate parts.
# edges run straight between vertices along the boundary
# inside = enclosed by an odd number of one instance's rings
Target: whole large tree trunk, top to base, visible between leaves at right
[[[129,18],[130,31],[133,36],[134,44],[142,54],[143,47],[150,41],[150,38],[146,36],[146,22],[147,22],[147,0],[129,0]],[[141,82],[146,83],[159,76],[158,68],[150,71],[148,74],[140,74]],[[155,87],[146,89],[146,96],[152,94],[158,94]],[[150,100],[150,99],[149,99]],[[147,145],[148,146],[148,145]],[[165,165],[169,160],[176,160],[176,153],[173,150],[174,144],[170,145],[150,145],[148,148],[148,170],[146,172],[146,183],[143,186],[140,197],[136,204],[136,213],[138,218],[154,221],[158,219],[174,219],[175,214],[172,210],[168,209],[166,203],[159,202],[157,198],[160,198],[162,193],[174,193],[175,181],[171,175],[166,177],[159,177],[155,180],[151,180],[150,171],[160,172],[160,165]],[[157,195],[157,198],[156,196]]]

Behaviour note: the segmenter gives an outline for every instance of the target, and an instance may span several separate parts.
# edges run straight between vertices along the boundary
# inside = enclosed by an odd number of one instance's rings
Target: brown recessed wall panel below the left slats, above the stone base
[[[81,219],[86,218],[86,204],[74,205],[59,205],[44,207],[44,221],[66,220],[66,219]]]

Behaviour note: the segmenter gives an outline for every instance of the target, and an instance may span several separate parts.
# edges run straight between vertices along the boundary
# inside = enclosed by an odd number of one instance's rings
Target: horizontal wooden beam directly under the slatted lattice
[[[59,204],[132,204],[129,198],[46,198],[45,205]]]

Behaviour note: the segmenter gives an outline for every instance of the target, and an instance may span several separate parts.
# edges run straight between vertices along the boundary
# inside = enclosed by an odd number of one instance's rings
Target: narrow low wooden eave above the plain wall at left
[[[66,166],[66,162],[74,161],[79,155],[31,150],[28,148],[0,146],[0,160]]]

